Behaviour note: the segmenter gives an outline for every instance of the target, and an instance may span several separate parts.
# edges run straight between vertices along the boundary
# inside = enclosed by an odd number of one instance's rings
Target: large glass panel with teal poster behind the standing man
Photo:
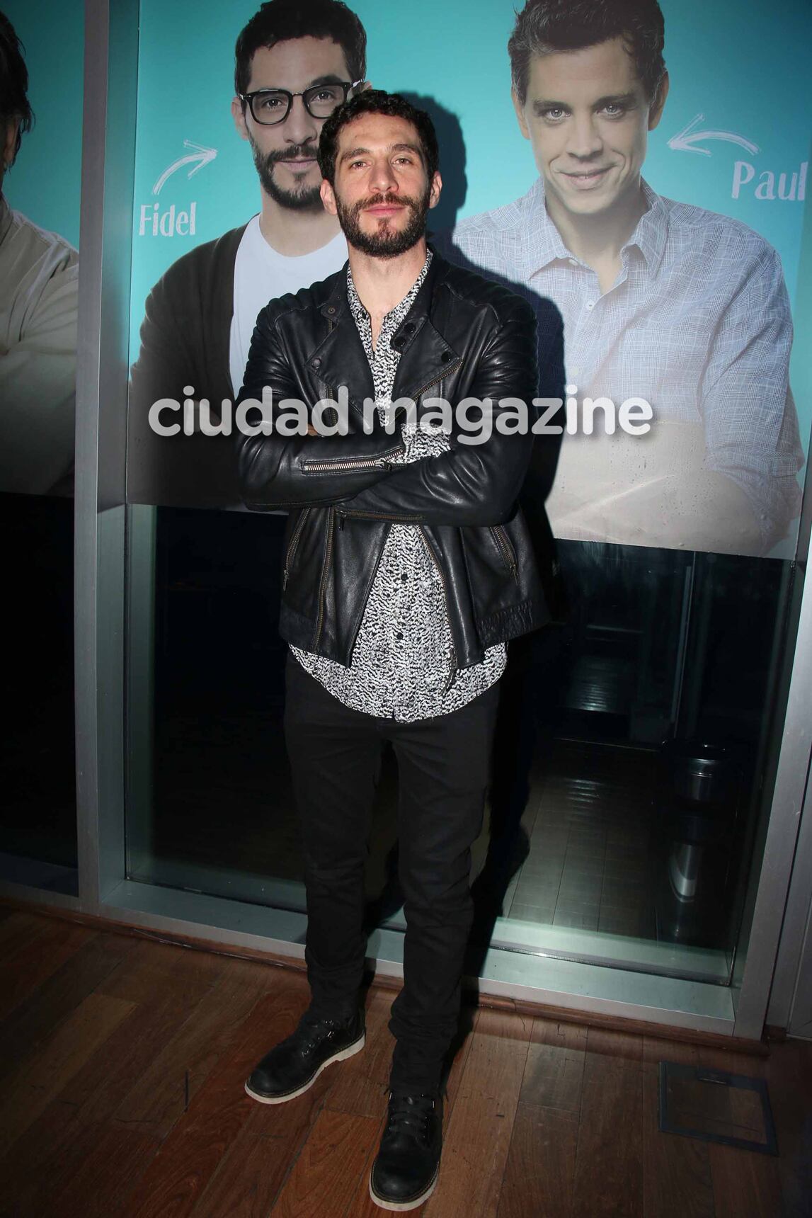
[[[779,18],[757,0],[757,19],[728,62],[718,51],[740,28],[733,0],[712,12],[693,0],[668,6],[666,117],[661,128],[643,124],[623,161],[634,161],[634,175],[645,156],[649,185],[637,184],[639,214],[628,230],[614,222],[614,245],[595,255],[578,241],[578,217],[598,199],[597,184],[575,174],[570,188],[581,202],[559,199],[556,211],[538,179],[554,178],[544,132],[564,123],[566,107],[545,117],[544,130],[516,124],[506,52],[513,6],[475,7],[474,23],[470,4],[443,9],[449,39],[463,24],[476,30],[449,62],[442,37],[426,44],[421,35],[439,19],[429,0],[408,21],[371,0],[353,5],[376,84],[399,88],[392,65],[414,50],[409,86],[436,118],[443,157],[437,248],[534,302],[555,302],[576,432],[587,395],[606,398],[617,419],[623,402],[643,398],[655,425],[648,440],[628,431],[562,438],[548,501],[560,603],[550,626],[510,644],[489,816],[475,848],[472,959],[492,944],[726,985],[745,888],[761,865],[767,760],[800,583],[808,350],[796,343],[791,368],[789,359],[791,322],[799,330],[808,322],[812,281],[801,160],[810,101],[800,35],[808,15],[790,5]],[[281,730],[287,521],[242,510],[230,441],[205,435],[200,420],[192,430],[201,398],[217,418],[237,391],[258,307],[325,278],[345,257],[315,206],[308,223],[321,245],[312,233],[307,248],[280,258],[273,244],[285,246],[290,230],[269,203],[274,190],[258,189],[257,167],[268,186],[281,173],[271,153],[282,145],[252,150],[240,107],[229,112],[230,48],[250,16],[235,21],[211,6],[190,26],[174,0],[141,6],[128,868],[134,879],[303,910]],[[755,34],[760,22],[775,30],[769,49]],[[765,108],[741,82],[766,72],[773,85]],[[489,82],[487,107],[471,79]],[[256,79],[241,91],[274,84],[293,91],[301,82]],[[185,85],[198,99],[194,130],[175,104]],[[735,130],[691,119],[713,96],[730,102]],[[638,102],[638,117],[656,108],[649,95]],[[576,104],[586,106],[573,94]],[[594,106],[589,114],[592,122]],[[610,119],[620,116],[594,123]],[[617,152],[622,129],[600,127],[601,149]],[[268,130],[263,139],[282,138]],[[603,214],[603,203],[595,207]],[[236,269],[250,230],[258,251],[251,284]],[[710,244],[698,256],[691,242],[700,233]],[[245,258],[240,266],[245,272]],[[150,426],[161,398],[161,421],[189,425],[190,435],[181,429],[169,438]],[[366,888],[370,924],[402,928],[396,799],[386,753]]]

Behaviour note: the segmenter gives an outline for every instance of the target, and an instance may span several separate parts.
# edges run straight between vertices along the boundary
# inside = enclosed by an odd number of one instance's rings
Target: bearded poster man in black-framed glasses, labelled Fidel
[[[347,242],[324,209],[315,150],[325,119],[364,84],[366,35],[341,0],[268,0],[235,48],[234,123],[259,175],[262,209],[179,258],[146,302],[133,367],[128,497],[174,505],[239,502],[225,436],[157,435],[161,398],[207,398],[218,415],[242,384],[259,309],[343,266]],[[164,426],[178,417],[164,412]]]

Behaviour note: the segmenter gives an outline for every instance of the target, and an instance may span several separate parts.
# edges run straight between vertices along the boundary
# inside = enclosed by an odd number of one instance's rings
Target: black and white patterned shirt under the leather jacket
[[[401,353],[390,340],[411,308],[431,262],[399,304],[386,314],[373,350],[369,313],[347,268],[347,297],[373,370],[375,406],[381,423],[392,402]],[[402,424],[405,451],[398,463],[435,457],[450,447],[444,432],[429,434]],[[291,650],[310,676],[346,706],[410,723],[458,710],[498,681],[506,648],[487,648],[481,664],[457,669],[446,608],[443,577],[419,525],[393,524],[369,593],[349,667],[298,647]]]

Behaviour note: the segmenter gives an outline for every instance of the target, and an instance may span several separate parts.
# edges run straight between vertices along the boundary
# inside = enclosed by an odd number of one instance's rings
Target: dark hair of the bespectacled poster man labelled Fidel
[[[256,51],[292,38],[330,38],[345,52],[349,79],[365,79],[366,30],[346,4],[341,0],[267,0],[237,38],[235,91],[247,91]]]

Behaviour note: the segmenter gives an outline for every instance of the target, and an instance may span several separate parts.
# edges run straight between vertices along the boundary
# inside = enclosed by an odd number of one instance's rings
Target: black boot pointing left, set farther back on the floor
[[[285,1104],[313,1086],[325,1066],[364,1047],[364,1012],[349,1019],[325,1019],[306,1011],[296,1032],[265,1054],[245,1089],[261,1104]]]

